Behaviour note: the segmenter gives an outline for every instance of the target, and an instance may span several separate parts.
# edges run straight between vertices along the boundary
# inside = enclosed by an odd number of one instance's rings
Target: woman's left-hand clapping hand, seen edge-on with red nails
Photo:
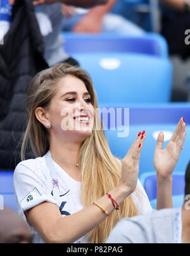
[[[143,148],[146,131],[139,132],[124,159],[122,159],[122,179],[120,185],[127,192],[134,192],[139,177],[139,159]]]

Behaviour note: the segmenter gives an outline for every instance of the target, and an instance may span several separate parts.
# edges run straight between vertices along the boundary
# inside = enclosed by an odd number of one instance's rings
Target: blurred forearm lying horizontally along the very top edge
[[[99,4],[106,4],[108,0],[34,0],[33,1],[35,6],[40,4],[52,4],[56,2],[60,2],[68,5],[74,5],[82,8],[91,8]]]

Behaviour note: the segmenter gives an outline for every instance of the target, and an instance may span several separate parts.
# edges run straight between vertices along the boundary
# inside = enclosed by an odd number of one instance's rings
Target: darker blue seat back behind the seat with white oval
[[[168,58],[168,46],[164,37],[155,33],[143,36],[121,36],[116,34],[77,34],[63,32],[64,49],[67,53],[125,52],[154,55]]]

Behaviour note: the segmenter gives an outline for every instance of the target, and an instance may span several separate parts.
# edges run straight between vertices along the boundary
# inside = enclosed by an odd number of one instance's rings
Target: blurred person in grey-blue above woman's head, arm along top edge
[[[70,65],[79,65],[77,60],[70,57],[63,48],[63,36],[61,35],[63,14],[61,11],[61,3],[89,8],[96,4],[105,4],[106,0],[34,0],[33,3],[41,34],[44,38],[44,58],[46,59],[47,64],[53,66],[59,62],[67,62]]]

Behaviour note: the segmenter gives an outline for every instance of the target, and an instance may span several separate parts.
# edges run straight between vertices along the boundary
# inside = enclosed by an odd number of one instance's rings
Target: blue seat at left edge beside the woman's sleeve
[[[3,196],[4,206],[17,210],[13,172],[0,171],[0,195]]]

